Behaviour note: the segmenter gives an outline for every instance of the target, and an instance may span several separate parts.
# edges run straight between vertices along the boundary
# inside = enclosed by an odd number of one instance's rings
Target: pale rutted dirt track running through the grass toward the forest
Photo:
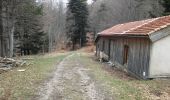
[[[80,61],[79,53],[67,56],[41,88],[39,100],[113,100]]]

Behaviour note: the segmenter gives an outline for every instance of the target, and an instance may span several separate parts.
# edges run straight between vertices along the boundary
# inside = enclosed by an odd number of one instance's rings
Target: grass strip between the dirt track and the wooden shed
[[[82,54],[81,61],[91,69],[95,79],[103,84],[105,88],[115,95],[116,100],[154,100],[155,98],[164,100],[169,97],[170,81],[169,80],[137,80],[122,78],[123,72],[112,72],[104,70],[107,67],[92,60],[91,55]],[[90,62],[90,63],[89,63]],[[109,69],[113,70],[114,69]]]

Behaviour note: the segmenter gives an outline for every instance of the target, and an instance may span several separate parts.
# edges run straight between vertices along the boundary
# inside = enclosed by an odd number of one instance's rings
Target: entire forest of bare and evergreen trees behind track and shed
[[[87,33],[168,15],[170,0],[0,0],[0,56],[86,46]]]

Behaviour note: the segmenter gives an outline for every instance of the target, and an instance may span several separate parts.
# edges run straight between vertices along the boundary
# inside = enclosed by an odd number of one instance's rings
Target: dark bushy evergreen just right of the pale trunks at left
[[[34,0],[24,0],[18,6],[15,23],[15,52],[29,55],[42,50],[44,41],[40,22],[42,10],[42,5],[38,5]]]

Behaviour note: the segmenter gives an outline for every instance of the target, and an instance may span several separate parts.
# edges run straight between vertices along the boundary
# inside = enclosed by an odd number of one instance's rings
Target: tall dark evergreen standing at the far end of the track
[[[88,28],[88,9],[86,0],[70,0],[67,6],[67,35],[73,43],[85,45]]]

